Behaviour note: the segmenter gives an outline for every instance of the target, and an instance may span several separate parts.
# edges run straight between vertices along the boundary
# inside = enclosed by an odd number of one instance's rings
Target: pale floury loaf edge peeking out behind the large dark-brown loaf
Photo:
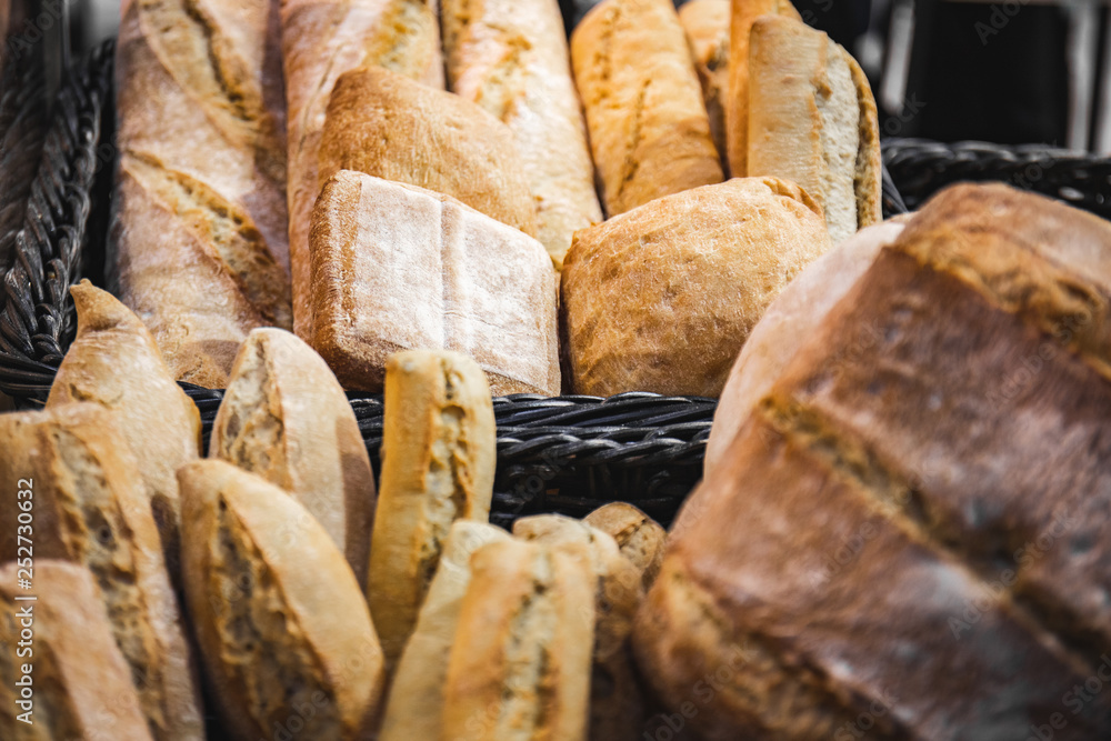
[[[902,230],[901,221],[863,229],[810,263],[768,307],[737,357],[713,414],[705,445],[707,475],[794,353]]]

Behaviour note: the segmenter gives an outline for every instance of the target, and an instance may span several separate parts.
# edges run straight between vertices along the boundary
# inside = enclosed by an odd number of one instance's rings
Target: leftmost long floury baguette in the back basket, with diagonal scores
[[[113,288],[208,388],[250,330],[291,326],[278,4],[122,6]]]

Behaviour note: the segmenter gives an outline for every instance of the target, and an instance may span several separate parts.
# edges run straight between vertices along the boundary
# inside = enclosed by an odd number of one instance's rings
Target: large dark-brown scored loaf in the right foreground
[[[1108,735],[1109,248],[959,186],[882,249],[680,515],[635,633],[669,707],[741,645],[705,739]]]

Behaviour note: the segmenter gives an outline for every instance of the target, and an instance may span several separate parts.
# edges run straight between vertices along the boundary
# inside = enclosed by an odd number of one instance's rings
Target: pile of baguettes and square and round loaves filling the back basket
[[[557,0],[124,0],[117,90],[110,288],[208,388],[278,327],[350,390],[446,349],[498,395],[718,395],[880,219],[868,81],[787,0],[570,43]]]

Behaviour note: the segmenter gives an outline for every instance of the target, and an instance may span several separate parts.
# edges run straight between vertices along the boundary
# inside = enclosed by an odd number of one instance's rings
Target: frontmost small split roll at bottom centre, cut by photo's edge
[[[585,553],[512,540],[471,558],[441,741],[587,733],[594,577]]]

